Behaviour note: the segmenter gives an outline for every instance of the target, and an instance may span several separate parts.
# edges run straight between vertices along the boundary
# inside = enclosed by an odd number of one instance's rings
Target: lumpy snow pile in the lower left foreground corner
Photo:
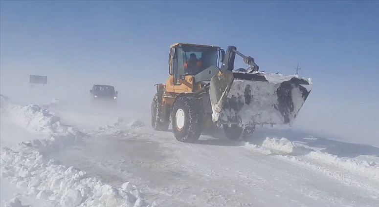
[[[143,192],[130,183],[120,188],[104,185],[86,172],[74,167],[47,163],[35,148],[41,142],[22,143],[18,151],[4,148],[1,153],[1,176],[18,187],[29,189],[28,194],[63,207],[143,207]]]

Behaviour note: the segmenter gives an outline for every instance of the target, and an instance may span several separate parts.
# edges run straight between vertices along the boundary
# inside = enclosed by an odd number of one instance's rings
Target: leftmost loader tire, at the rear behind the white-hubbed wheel
[[[157,131],[168,131],[170,125],[168,117],[162,113],[162,97],[158,93],[151,104],[151,125]]]

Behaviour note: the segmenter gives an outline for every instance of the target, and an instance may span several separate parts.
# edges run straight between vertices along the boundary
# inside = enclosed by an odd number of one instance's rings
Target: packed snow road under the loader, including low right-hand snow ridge
[[[309,154],[305,148],[298,155],[302,159],[297,159],[281,154],[288,145],[269,151],[227,141],[222,133],[214,136],[219,139],[202,136],[197,144],[185,144],[172,133],[135,124],[104,127],[50,158],[80,167],[112,186],[132,181],[145,190],[148,202],[165,207],[377,207],[379,203],[379,174],[365,176],[317,164],[305,156]]]

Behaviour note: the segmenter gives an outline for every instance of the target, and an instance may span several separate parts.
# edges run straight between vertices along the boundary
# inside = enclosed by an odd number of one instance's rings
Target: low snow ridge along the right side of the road
[[[379,181],[379,165],[373,161],[357,161],[349,158],[341,158],[319,150],[305,148],[297,143],[291,143],[286,138],[269,138],[262,143],[262,146],[251,145],[246,143],[245,146],[261,148],[259,150],[268,150],[270,153],[276,153],[290,160],[299,161],[308,160],[327,166],[337,166],[348,170],[360,176]]]

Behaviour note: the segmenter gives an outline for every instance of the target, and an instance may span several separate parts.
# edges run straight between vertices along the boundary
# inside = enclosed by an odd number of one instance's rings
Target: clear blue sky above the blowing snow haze
[[[379,86],[379,1],[16,0],[0,9],[3,70],[48,60],[48,70],[164,82],[169,46],[192,42],[235,45],[268,72],[293,74],[299,62],[319,88]]]

